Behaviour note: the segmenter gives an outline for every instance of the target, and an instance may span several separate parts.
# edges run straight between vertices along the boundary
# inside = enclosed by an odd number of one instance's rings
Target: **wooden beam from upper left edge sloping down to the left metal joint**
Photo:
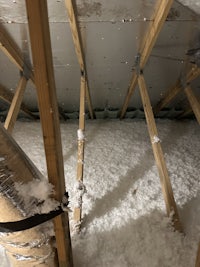
[[[19,70],[24,71],[25,69],[26,72],[28,72],[30,79],[34,83],[33,71],[26,64],[21,51],[7,31],[2,27],[2,25],[0,25],[0,49],[17,66]]]

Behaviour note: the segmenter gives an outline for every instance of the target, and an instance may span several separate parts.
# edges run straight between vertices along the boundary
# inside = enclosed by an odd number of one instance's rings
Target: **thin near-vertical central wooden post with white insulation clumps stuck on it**
[[[86,96],[86,80],[84,76],[81,76],[81,86],[80,86],[80,110],[79,110],[79,132],[78,132],[78,157],[77,157],[77,181],[79,186],[77,186],[78,196],[77,196],[77,207],[74,209],[74,222],[76,231],[80,231],[81,226],[81,213],[82,213],[82,195],[80,190],[83,188],[83,169],[84,169],[84,131],[85,131],[85,96]],[[79,192],[80,191],[80,192]]]

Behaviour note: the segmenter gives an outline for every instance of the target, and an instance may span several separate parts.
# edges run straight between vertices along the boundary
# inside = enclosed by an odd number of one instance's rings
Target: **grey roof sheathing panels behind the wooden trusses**
[[[143,36],[152,22],[155,0],[77,0],[77,18],[93,108],[120,110],[135,68],[136,57]],[[0,0],[0,23],[32,65],[26,7],[24,1]],[[54,73],[59,106],[66,113],[79,110],[80,67],[74,49],[64,1],[48,0],[49,23]],[[155,106],[170,86],[186,73],[189,49],[200,47],[199,1],[175,1],[165,21],[149,60],[144,68],[145,80],[152,106]],[[14,92],[19,70],[0,51],[0,84]],[[200,97],[200,79],[192,89]],[[24,104],[37,111],[36,90],[28,82]],[[1,111],[8,105],[1,103]],[[183,94],[169,104],[169,108],[183,109],[188,105]],[[136,88],[129,110],[141,109]]]

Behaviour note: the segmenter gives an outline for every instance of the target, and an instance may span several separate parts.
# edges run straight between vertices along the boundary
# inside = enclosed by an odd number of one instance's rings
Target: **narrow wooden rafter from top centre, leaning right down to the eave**
[[[72,32],[77,59],[79,62],[81,73],[84,73],[85,79],[86,79],[86,98],[87,98],[90,117],[91,119],[94,119],[95,115],[94,115],[94,111],[92,108],[91,96],[90,96],[90,91],[89,91],[89,86],[88,86],[88,78],[87,78],[87,71],[86,71],[86,66],[85,66],[84,52],[83,52],[83,47],[81,43],[81,35],[80,35],[79,27],[78,27],[77,18],[75,15],[73,0],[65,0],[65,5],[66,5],[67,12],[68,12],[69,23],[70,23],[70,28]]]

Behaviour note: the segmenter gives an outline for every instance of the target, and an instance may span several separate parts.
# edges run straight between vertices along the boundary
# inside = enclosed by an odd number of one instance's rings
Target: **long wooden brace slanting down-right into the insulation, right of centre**
[[[170,182],[170,178],[168,175],[162,147],[160,144],[160,140],[158,138],[158,131],[156,128],[155,119],[153,116],[151,103],[149,99],[149,95],[147,92],[146,84],[143,75],[140,75],[138,77],[138,84],[140,89],[140,95],[142,98],[143,108],[145,112],[145,117],[147,121],[149,136],[152,143],[153,153],[156,161],[156,165],[158,168],[159,176],[160,176],[160,182],[161,182],[161,188],[165,200],[166,210],[168,216],[172,214],[173,224],[174,228],[178,231],[182,231],[181,222],[178,215],[178,210],[176,207],[176,203],[174,200],[173,190]]]

